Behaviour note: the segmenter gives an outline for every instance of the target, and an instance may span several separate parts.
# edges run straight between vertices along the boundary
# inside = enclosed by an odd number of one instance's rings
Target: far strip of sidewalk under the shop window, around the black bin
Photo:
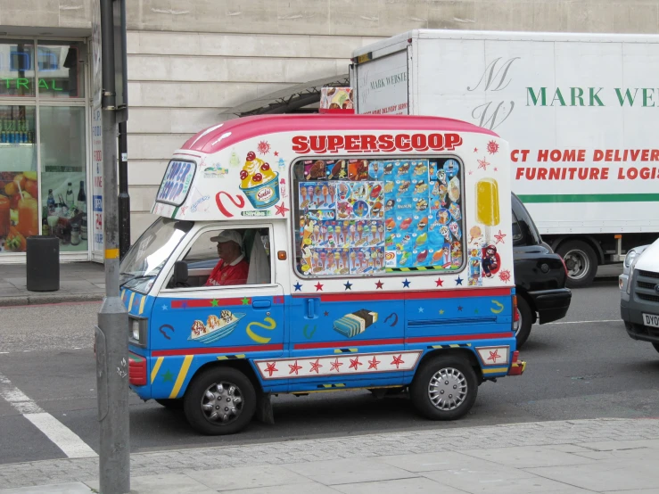
[[[25,264],[0,265],[0,306],[103,300],[103,269],[95,262],[62,263],[58,291],[28,292]]]

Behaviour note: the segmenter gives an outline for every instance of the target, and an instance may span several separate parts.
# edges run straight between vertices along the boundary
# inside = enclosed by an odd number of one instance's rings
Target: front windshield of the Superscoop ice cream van
[[[119,284],[149,292],[171,253],[194,222],[158,218],[130,248],[119,268]]]

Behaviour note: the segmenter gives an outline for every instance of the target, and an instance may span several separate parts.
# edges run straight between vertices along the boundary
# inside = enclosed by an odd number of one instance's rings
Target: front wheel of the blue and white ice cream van
[[[211,367],[194,377],[185,391],[188,423],[206,435],[233,434],[250,423],[256,391],[249,378],[231,367]]]

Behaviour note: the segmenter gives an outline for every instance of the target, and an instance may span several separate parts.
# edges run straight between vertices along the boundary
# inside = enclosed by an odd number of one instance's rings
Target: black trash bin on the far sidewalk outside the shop
[[[29,236],[26,277],[29,292],[60,289],[60,240],[56,236]]]

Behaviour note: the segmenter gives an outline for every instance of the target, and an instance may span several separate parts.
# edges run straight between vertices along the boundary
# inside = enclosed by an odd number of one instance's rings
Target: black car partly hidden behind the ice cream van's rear
[[[513,193],[513,259],[519,320],[515,322],[517,348],[531,333],[531,325],[561,319],[567,314],[572,292],[565,288],[564,260],[542,242],[538,228],[523,203]]]

